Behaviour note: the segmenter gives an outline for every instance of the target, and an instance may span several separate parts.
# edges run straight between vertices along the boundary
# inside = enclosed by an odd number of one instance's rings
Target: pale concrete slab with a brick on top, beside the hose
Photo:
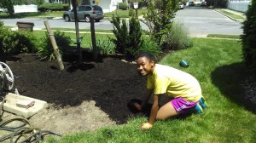
[[[32,117],[48,106],[44,100],[37,100],[20,94],[9,93],[4,98],[6,101],[3,103],[3,111],[26,118]]]

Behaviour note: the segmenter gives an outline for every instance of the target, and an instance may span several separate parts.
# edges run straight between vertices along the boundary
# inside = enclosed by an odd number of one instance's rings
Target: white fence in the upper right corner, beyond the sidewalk
[[[247,12],[248,5],[251,4],[250,0],[229,0],[228,9]]]

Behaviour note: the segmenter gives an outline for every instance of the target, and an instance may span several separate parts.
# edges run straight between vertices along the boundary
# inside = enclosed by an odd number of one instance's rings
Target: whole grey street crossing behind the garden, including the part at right
[[[203,9],[198,7],[185,7],[177,11],[175,20],[180,21],[189,29],[192,37],[206,37],[207,34],[229,34],[241,35],[241,23],[235,20],[230,20],[223,14],[219,14],[212,9]],[[43,19],[4,19],[5,26],[16,26],[18,21],[33,22],[34,29],[45,28]],[[74,21],[65,22],[62,19],[49,19],[49,26],[51,28],[75,28]],[[148,27],[141,22],[144,30]],[[79,29],[90,29],[90,23],[84,21],[79,22]],[[113,25],[109,20],[101,20],[95,23],[95,29],[111,30]]]

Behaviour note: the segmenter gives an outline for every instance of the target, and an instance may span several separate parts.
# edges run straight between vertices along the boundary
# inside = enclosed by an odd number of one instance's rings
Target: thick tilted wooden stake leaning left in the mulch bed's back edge
[[[60,70],[64,70],[64,65],[63,65],[62,60],[61,60],[61,54],[59,53],[59,49],[58,49],[57,43],[55,41],[55,35],[51,31],[51,29],[49,27],[48,20],[44,21],[44,26],[46,27],[46,29],[48,31],[49,39],[50,39],[50,42],[51,42],[52,47],[54,49],[54,54],[55,54],[55,56],[57,58],[57,62],[58,62],[59,68],[60,68]]]

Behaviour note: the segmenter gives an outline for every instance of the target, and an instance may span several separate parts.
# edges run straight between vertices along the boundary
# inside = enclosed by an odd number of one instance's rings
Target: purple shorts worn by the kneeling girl
[[[193,107],[196,106],[198,101],[196,102],[189,102],[187,100],[183,100],[181,97],[177,97],[171,100],[172,106],[178,113],[186,113],[189,112]]]

